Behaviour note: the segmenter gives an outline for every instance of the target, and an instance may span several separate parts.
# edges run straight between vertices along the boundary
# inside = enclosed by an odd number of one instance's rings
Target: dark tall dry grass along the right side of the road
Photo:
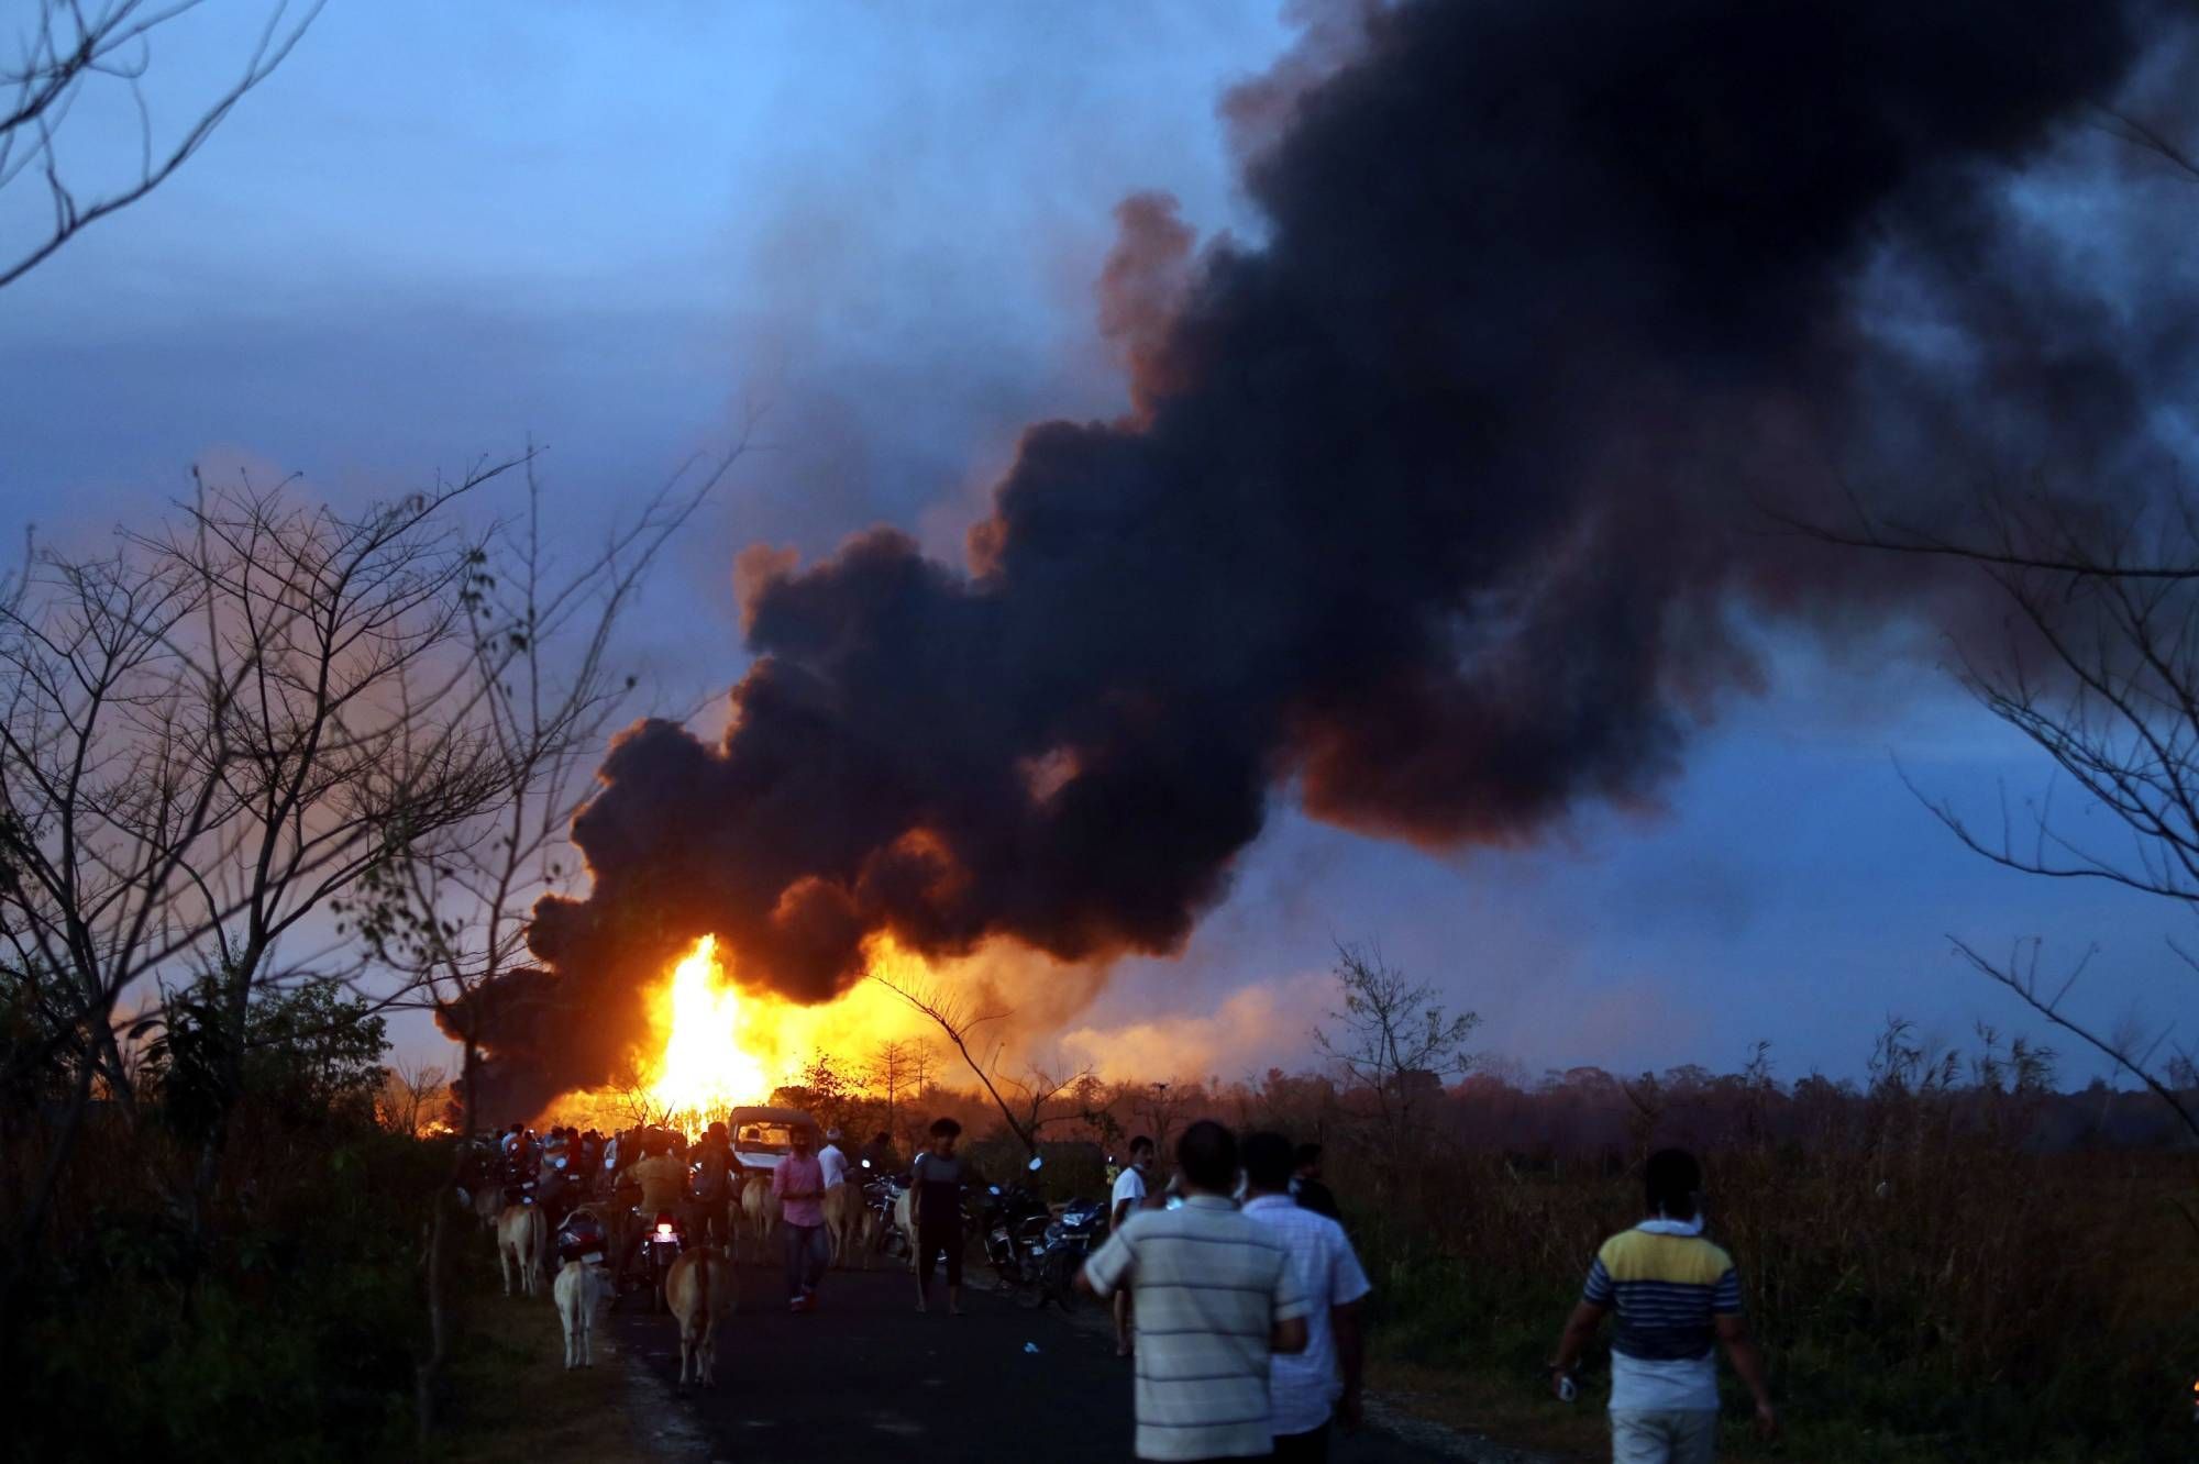
[[[1436,1145],[1401,1176],[1333,1145],[1379,1345],[1539,1387],[1599,1242],[1640,1218],[1660,1119],[1579,1163]],[[2192,1457],[2190,1156],[2036,1152],[2021,1093],[1913,1075],[1801,1134],[1737,1128],[1704,1154],[1711,1235],[1801,1457]]]

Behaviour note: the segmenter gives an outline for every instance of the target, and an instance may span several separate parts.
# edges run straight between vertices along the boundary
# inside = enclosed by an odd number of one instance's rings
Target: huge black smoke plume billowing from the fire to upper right
[[[1172,952],[1275,796],[1456,846],[1651,794],[1759,681],[1761,626],[1966,609],[1781,514],[1863,492],[1929,525],[1986,462],[2096,495],[2159,466],[2188,290],[2124,310],[2012,180],[2181,24],[1368,9],[1357,57],[1256,99],[1264,237],[1201,251],[1124,204],[1102,319],[1135,415],[1031,426],[968,567],[893,530],[743,556],[732,730],[616,743],[574,829],[594,892],[543,901],[534,950],[605,1020],[706,930],[800,1000],[875,932]]]

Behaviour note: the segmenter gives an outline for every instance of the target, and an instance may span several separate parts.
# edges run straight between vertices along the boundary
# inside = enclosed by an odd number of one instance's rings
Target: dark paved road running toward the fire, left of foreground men
[[[1104,1332],[1051,1308],[1020,1310],[979,1286],[965,1290],[963,1308],[946,1317],[935,1304],[919,1317],[906,1273],[836,1271],[822,1306],[794,1317],[776,1268],[741,1266],[741,1308],[719,1332],[717,1389],[693,1389],[684,1407],[710,1453],[741,1464],[1130,1457],[1130,1365]],[[611,1323],[631,1356],[666,1383],[677,1378],[671,1319],[618,1312]],[[1407,1464],[1443,1455],[1368,1433],[1341,1442],[1335,1457]]]

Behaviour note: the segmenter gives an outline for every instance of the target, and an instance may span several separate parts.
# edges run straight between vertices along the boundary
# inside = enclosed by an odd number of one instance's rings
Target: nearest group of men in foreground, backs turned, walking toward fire
[[[1152,1156],[1150,1141],[1132,1143],[1113,1233],[1078,1279],[1113,1297],[1117,1352],[1137,1356],[1137,1457],[1326,1460],[1333,1429],[1361,1418],[1372,1286],[1319,1178],[1319,1150],[1192,1123],[1176,1143],[1174,1202],[1148,1189]],[[1755,1400],[1759,1435],[1777,1435],[1779,1418],[1739,1273],[1702,1233],[1695,1158],[1651,1154],[1645,1200],[1645,1220],[1590,1264],[1550,1387],[1574,1398],[1581,1354],[1612,1319],[1614,1464],[1709,1464],[1717,1343]]]

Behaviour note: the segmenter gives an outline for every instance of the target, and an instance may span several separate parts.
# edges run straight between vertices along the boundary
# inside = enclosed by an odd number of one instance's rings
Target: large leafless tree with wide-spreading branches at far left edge
[[[123,1046],[156,1016],[125,1002],[150,976],[198,978],[233,1097],[255,994],[347,963],[290,952],[306,921],[501,796],[457,655],[482,552],[451,508],[506,466],[358,514],[198,484],[103,558],[40,556],[0,607],[0,941],[40,1013],[7,1064],[66,1075],[42,1174],[11,1196],[9,1284],[95,1088],[132,1099]],[[200,1235],[224,1139],[218,1114]]]

